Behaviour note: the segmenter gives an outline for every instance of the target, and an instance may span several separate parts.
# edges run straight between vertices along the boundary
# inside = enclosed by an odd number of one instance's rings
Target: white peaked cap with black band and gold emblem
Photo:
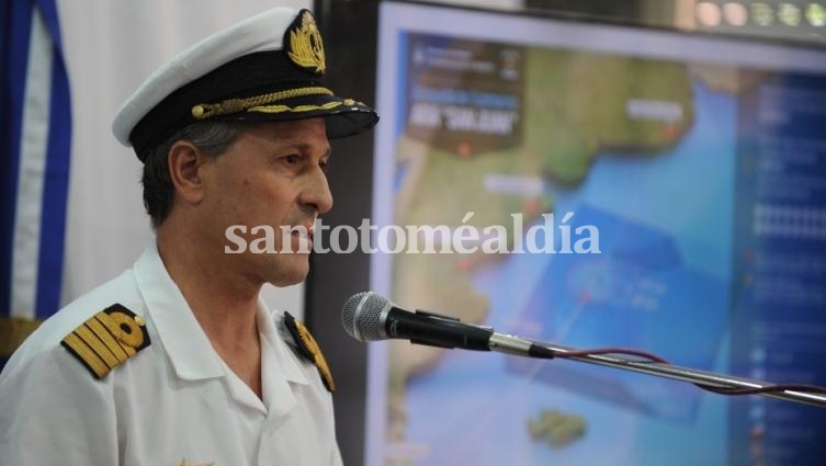
[[[324,42],[308,10],[276,8],[217,32],[155,71],[112,130],[138,158],[199,121],[325,117],[330,138],[372,128],[367,105],[324,87]]]

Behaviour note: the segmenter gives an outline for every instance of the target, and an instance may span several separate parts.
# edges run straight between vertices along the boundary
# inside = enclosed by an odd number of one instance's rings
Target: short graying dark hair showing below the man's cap
[[[253,122],[197,122],[174,133],[154,149],[147,150],[144,162],[144,206],[152,223],[158,228],[169,217],[174,200],[174,186],[169,175],[168,156],[172,145],[178,140],[189,140],[207,157],[218,157]]]

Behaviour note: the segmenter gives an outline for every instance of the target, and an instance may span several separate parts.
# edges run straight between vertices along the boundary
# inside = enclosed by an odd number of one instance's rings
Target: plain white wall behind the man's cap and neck
[[[112,136],[121,103],[199,39],[275,5],[312,0],[58,0],[73,135],[63,303],[116,276],[151,240],[140,162]],[[304,311],[304,286],[267,287],[272,307]]]

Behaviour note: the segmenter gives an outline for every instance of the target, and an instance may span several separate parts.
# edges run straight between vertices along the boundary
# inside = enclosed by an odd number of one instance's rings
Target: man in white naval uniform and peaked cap
[[[307,274],[299,232],[332,206],[328,138],[377,121],[324,70],[313,15],[276,9],[183,52],[123,105],[113,128],[145,163],[156,241],[12,356],[2,464],[341,463],[324,356],[259,298]],[[226,253],[235,225],[297,232],[273,238],[285,252]]]

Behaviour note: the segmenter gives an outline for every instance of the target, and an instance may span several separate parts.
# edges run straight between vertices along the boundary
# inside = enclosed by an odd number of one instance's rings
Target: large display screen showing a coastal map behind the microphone
[[[826,53],[393,2],[378,41],[374,221],[448,236],[373,254],[376,293],[826,385]],[[572,361],[397,340],[369,379],[371,466],[826,454],[826,409]]]

